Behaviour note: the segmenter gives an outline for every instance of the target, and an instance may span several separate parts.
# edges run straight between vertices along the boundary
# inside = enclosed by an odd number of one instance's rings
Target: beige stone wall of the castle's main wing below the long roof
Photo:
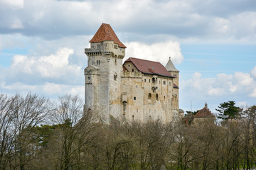
[[[129,62],[124,67],[130,72],[122,72],[121,90],[127,96],[126,106],[122,104],[123,119],[142,123],[157,119],[163,123],[171,121],[174,117],[171,106],[173,79],[142,74]]]

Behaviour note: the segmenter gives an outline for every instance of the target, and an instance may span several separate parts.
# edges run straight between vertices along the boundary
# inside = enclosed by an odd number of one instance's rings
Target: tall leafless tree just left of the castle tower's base
[[[53,113],[53,123],[58,128],[51,142],[55,146],[58,169],[85,169],[87,146],[95,139],[96,125],[92,123],[91,113],[82,112],[82,106],[78,96],[65,95],[59,98]]]

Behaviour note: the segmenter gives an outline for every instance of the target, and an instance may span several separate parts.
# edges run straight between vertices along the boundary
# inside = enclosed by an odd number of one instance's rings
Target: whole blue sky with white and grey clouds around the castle
[[[84,48],[102,23],[128,57],[180,71],[180,108],[256,105],[255,0],[0,0],[0,92],[85,96]]]

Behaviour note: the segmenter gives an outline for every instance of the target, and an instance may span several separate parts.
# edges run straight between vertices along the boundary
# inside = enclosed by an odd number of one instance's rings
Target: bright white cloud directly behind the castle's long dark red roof
[[[174,64],[181,64],[183,61],[183,55],[181,54],[181,47],[178,42],[159,42],[151,45],[147,45],[142,42],[128,42],[126,57],[124,61],[129,57],[137,57],[144,60],[151,60],[161,62],[165,66],[169,57]]]

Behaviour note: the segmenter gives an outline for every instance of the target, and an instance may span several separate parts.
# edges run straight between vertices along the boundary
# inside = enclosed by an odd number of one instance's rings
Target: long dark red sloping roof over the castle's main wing
[[[169,72],[160,62],[152,62],[149,60],[142,60],[132,57],[129,57],[129,59],[127,59],[125,62],[132,62],[132,64],[134,64],[134,66],[144,74],[155,74],[164,77],[174,78],[173,76],[171,76],[171,74],[169,74]]]

